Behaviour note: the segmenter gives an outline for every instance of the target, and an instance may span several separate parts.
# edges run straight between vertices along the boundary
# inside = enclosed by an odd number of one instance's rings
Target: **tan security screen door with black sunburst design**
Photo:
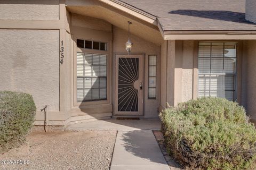
[[[143,54],[115,55],[115,115],[143,115]]]

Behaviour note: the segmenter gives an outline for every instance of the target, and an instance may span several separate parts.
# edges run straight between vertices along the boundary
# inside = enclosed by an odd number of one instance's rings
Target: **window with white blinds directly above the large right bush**
[[[236,100],[236,43],[200,42],[198,97]]]

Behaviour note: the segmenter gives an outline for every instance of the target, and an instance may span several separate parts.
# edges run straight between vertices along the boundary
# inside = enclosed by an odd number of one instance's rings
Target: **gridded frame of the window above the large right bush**
[[[199,57],[199,44],[200,43],[211,43],[211,49],[210,49],[210,57]],[[212,43],[223,43],[223,56],[222,57],[212,57]],[[225,51],[225,43],[235,43],[235,50],[236,50],[236,57],[231,57],[231,58],[235,58],[236,60],[236,64],[235,64],[235,73],[225,73],[225,56],[224,56],[224,51]],[[233,91],[233,101],[237,101],[238,100],[238,79],[239,79],[239,73],[238,73],[238,61],[239,61],[239,52],[238,52],[238,48],[239,48],[239,43],[237,41],[198,41],[198,44],[197,44],[197,64],[198,64],[198,72],[197,72],[197,83],[198,83],[198,86],[197,86],[197,97],[199,97],[199,76],[200,75],[209,75],[209,96],[211,96],[211,75],[223,75],[225,77],[225,75],[230,75],[230,76],[233,76],[234,77],[234,82],[233,82],[233,85],[234,85],[234,90],[221,90],[222,93],[225,92],[225,91]],[[199,72],[199,58],[210,58],[210,72],[209,73],[200,73]],[[212,58],[222,58],[223,59],[223,66],[222,66],[222,73],[211,73],[211,67],[212,67]],[[204,90],[206,91],[206,90]],[[207,90],[208,91],[208,90]],[[218,90],[217,90],[218,91]],[[223,95],[223,94],[222,94]]]

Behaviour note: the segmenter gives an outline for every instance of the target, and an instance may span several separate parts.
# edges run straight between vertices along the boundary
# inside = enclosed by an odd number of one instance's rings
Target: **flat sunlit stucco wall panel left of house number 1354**
[[[59,31],[0,30],[0,90],[33,95],[59,111]]]

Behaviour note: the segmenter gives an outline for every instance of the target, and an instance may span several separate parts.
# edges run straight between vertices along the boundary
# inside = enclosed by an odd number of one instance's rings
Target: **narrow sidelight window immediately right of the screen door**
[[[148,56],[148,98],[156,98],[156,55]]]

